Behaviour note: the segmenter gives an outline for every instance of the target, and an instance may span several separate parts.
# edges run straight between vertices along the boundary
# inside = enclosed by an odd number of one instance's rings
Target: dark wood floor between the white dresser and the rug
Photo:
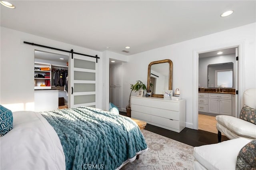
[[[126,113],[120,112],[120,115],[126,116]],[[145,130],[160,134],[162,136],[171,138],[173,140],[177,140],[182,143],[186,143],[190,146],[201,146],[205,144],[218,143],[217,134],[212,132],[207,132],[204,130],[184,128],[180,133],[178,133],[172,130],[167,130],[167,129],[156,127],[154,125],[149,125],[149,124],[146,125]],[[222,135],[221,140],[224,141],[229,139],[226,136]]]

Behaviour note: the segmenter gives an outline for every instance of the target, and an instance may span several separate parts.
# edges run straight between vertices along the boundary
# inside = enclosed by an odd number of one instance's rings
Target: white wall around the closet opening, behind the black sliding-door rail
[[[68,43],[57,42],[1,27],[1,62],[0,62],[0,103],[12,111],[34,110],[34,50],[48,51],[69,55],[69,53],[37,47],[22,43],[34,42],[50,47],[71,50],[88,55],[98,55],[98,108],[102,108],[102,52],[86,49]]]

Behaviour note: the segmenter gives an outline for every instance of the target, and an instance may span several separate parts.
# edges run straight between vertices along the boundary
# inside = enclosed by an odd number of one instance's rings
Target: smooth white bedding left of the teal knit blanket
[[[60,139],[40,113],[13,112],[13,129],[0,137],[0,169],[66,169]]]

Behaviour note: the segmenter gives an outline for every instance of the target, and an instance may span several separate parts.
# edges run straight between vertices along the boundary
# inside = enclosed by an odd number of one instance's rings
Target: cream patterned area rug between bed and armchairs
[[[193,146],[142,130],[148,151],[121,170],[192,170]]]

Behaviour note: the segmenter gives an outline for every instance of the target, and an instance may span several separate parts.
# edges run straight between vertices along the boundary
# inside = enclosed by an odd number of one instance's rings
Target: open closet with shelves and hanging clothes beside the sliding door
[[[68,55],[35,50],[35,111],[68,108]]]

